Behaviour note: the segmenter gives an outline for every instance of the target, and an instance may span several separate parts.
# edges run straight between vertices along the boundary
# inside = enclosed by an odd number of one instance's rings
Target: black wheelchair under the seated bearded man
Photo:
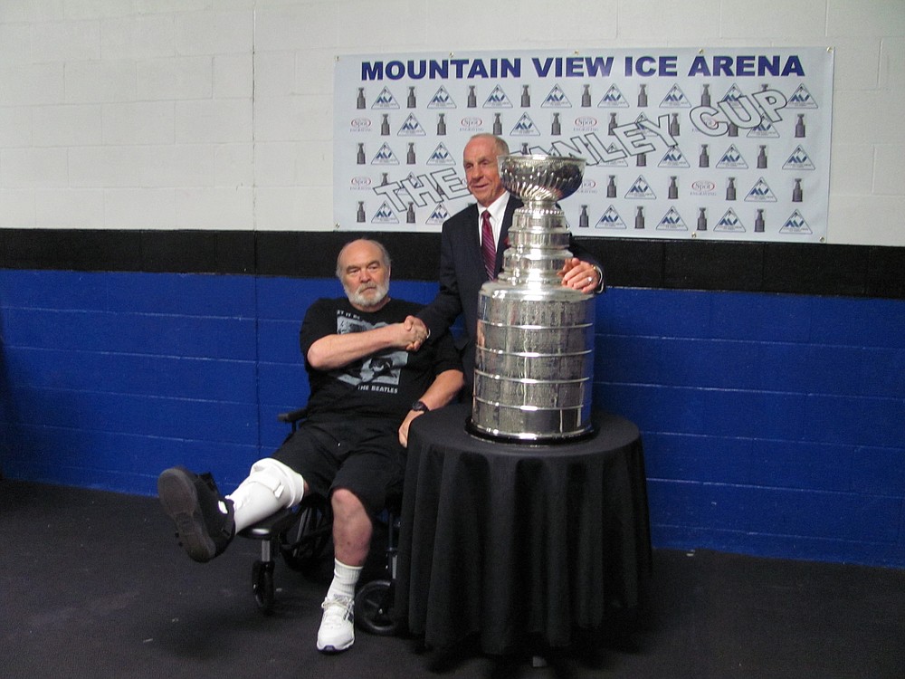
[[[292,435],[307,414],[305,408],[299,408],[281,413],[277,418],[291,426]],[[386,524],[384,577],[359,586],[355,595],[355,623],[371,634],[394,635],[399,628],[393,605],[400,505],[401,498],[391,497],[380,517]],[[306,496],[299,505],[276,512],[243,529],[239,535],[261,541],[261,557],[252,564],[252,592],[258,608],[268,615],[273,610],[277,555],[291,569],[311,575],[332,547],[333,517],[329,501]]]

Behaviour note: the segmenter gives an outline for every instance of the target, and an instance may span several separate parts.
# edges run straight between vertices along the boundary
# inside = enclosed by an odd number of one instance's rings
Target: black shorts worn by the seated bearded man
[[[402,493],[405,448],[398,426],[386,420],[305,420],[272,456],[300,473],[312,493],[355,493],[371,516],[388,495]]]

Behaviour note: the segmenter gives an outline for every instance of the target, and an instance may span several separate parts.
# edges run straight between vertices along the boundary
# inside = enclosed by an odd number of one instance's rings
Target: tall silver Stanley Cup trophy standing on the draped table
[[[557,201],[581,186],[585,161],[501,156],[503,186],[519,196],[496,281],[478,297],[469,430],[547,443],[589,434],[594,373],[594,296],[558,272],[572,256]]]

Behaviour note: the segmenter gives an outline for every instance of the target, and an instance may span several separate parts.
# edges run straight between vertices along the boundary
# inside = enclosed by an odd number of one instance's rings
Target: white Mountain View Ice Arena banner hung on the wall
[[[438,231],[473,202],[462,148],[587,161],[573,234],[818,242],[833,52],[817,47],[342,56],[338,228]]]

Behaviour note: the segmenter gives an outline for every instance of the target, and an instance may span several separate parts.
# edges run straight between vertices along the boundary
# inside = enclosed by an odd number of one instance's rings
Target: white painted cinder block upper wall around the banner
[[[327,230],[340,54],[825,45],[828,241],[905,246],[903,0],[2,0],[0,227]]]

